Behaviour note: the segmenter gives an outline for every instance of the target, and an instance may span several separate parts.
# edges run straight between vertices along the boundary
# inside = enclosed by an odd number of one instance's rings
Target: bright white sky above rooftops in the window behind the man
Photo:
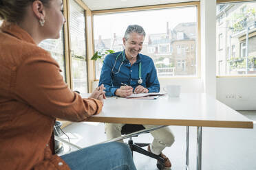
[[[120,12],[114,14],[98,14],[94,16],[94,38],[110,38],[114,33],[123,36],[128,25],[138,24],[146,34],[164,33],[178,23],[196,22],[196,7],[169,8],[162,10],[146,10],[138,12]]]

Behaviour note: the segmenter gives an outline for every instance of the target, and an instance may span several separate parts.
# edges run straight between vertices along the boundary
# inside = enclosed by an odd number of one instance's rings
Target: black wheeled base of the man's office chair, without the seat
[[[131,155],[133,156],[133,151],[136,151],[140,154],[149,156],[151,158],[154,158],[156,160],[159,160],[156,164],[156,166],[158,167],[158,169],[164,169],[164,158],[162,158],[161,156],[158,156],[156,154],[152,154],[151,152],[142,149],[141,147],[145,147],[147,145],[149,145],[149,143],[134,143],[134,141],[132,141],[131,139],[129,139],[128,141],[128,145],[131,149]]]

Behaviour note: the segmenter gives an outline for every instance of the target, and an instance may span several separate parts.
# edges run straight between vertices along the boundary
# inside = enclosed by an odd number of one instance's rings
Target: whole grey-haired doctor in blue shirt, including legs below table
[[[126,97],[133,92],[159,92],[160,84],[153,60],[140,53],[145,35],[145,31],[140,25],[129,25],[124,38],[122,38],[125,50],[106,56],[100,74],[99,86],[104,84],[107,96]],[[121,136],[123,125],[125,124],[106,123],[107,139]],[[155,125],[144,126],[150,128]],[[154,140],[149,145],[148,150],[153,154],[162,156],[165,160],[164,166],[170,168],[171,162],[167,156],[162,154],[162,150],[174,143],[171,130],[169,127],[163,127],[151,132],[151,134]]]

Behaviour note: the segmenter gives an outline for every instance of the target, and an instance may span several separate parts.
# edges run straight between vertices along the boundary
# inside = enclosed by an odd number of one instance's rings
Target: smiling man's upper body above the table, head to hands
[[[159,92],[153,60],[140,54],[145,35],[139,25],[129,25],[122,38],[125,50],[106,56],[99,84],[104,84],[107,96],[127,97],[133,92]]]

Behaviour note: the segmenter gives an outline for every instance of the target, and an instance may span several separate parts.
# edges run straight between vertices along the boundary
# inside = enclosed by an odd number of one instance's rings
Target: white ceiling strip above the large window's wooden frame
[[[115,8],[160,5],[199,0],[82,0],[90,10],[109,10]]]

